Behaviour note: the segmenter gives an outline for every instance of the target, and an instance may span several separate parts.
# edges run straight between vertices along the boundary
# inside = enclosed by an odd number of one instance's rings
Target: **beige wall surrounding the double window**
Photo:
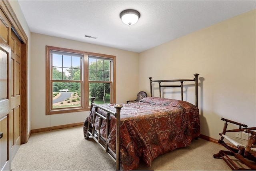
[[[116,56],[116,102],[125,103],[138,93],[138,53],[31,33],[31,129],[83,122],[86,112],[45,115],[45,46],[56,46]],[[128,83],[132,80],[132,85]]]

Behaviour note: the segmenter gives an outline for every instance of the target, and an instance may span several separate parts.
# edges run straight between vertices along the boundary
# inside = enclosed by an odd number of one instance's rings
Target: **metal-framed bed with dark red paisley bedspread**
[[[85,139],[93,138],[116,162],[116,170],[134,170],[142,160],[150,167],[157,156],[189,146],[200,135],[198,75],[181,80],[149,78],[151,97],[136,103],[98,105],[92,97],[84,121]],[[160,97],[152,97],[154,82],[159,83]],[[183,82],[195,82],[195,105],[183,101]],[[182,100],[162,98],[161,87],[181,87]]]

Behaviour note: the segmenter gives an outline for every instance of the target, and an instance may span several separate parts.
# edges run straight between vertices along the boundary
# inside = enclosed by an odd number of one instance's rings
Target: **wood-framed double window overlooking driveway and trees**
[[[46,115],[115,103],[115,56],[46,46]]]

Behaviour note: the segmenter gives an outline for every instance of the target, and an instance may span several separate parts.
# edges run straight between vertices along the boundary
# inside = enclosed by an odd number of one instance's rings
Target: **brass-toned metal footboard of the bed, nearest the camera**
[[[113,111],[94,103],[94,99],[95,97],[91,97],[91,107],[90,107],[90,112],[92,111],[92,108],[95,107],[95,110],[93,113],[94,119],[93,119],[93,123],[88,121],[88,127],[86,131],[85,139],[88,139],[89,136],[91,136],[106,151],[106,153],[116,162],[116,170],[120,170],[120,111],[121,111],[122,105],[118,104],[114,106],[116,108],[116,113],[114,113]],[[106,111],[107,117],[98,113],[97,108],[100,108]],[[101,127],[102,119],[106,121],[106,137],[101,136],[100,129],[98,131],[95,129],[96,115],[98,116],[98,119],[100,119],[99,127]],[[108,143],[107,143],[107,139],[109,135],[110,115],[114,115],[116,117],[116,153],[114,153],[114,151],[112,151],[112,149],[108,147]]]

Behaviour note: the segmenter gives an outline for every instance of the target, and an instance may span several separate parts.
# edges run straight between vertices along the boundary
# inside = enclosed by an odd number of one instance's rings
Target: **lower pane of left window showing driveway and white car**
[[[52,83],[52,108],[81,106],[81,84],[70,82]],[[60,92],[63,91],[63,92]],[[68,92],[66,92],[68,91]]]

